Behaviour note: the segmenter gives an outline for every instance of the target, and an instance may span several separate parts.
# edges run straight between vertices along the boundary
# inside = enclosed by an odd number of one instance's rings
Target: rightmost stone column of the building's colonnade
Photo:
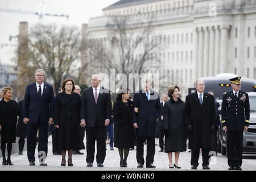
[[[225,73],[228,65],[228,30],[229,26],[221,26],[220,73]]]

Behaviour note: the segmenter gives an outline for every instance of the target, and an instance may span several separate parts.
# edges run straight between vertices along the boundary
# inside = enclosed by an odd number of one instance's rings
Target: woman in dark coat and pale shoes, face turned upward
[[[179,86],[169,88],[168,96],[170,100],[164,104],[163,119],[165,130],[164,152],[168,153],[169,168],[180,168],[178,164],[179,154],[186,151],[185,134],[185,103],[179,98]],[[175,152],[175,163],[172,166],[172,152]]]

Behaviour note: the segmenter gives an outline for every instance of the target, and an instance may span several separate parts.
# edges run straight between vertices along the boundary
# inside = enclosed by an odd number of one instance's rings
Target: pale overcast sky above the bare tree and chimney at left
[[[9,36],[18,35],[19,22],[28,22],[28,26],[36,23],[56,22],[81,27],[89,18],[102,15],[102,9],[118,0],[0,0],[0,61],[2,64],[14,64],[12,57],[18,39],[9,41]],[[19,10],[20,13],[5,13],[1,10]],[[42,11],[49,14],[69,14],[63,17],[22,14],[24,11]],[[9,46],[1,46],[8,44]]]

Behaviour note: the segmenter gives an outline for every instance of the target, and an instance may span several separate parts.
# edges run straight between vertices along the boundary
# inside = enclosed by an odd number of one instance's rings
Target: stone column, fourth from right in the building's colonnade
[[[204,27],[203,31],[204,31],[203,77],[207,77],[208,76],[208,61],[209,61],[209,31],[208,31],[208,27]]]

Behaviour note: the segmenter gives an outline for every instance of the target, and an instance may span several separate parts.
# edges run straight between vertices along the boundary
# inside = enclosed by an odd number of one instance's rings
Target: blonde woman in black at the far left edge
[[[21,117],[16,101],[11,100],[13,89],[5,86],[2,89],[3,98],[0,101],[0,130],[1,130],[1,151],[3,155],[3,165],[13,165],[11,163],[12,143],[16,142],[16,123],[18,116]],[[8,158],[5,158],[5,148],[7,143]]]

